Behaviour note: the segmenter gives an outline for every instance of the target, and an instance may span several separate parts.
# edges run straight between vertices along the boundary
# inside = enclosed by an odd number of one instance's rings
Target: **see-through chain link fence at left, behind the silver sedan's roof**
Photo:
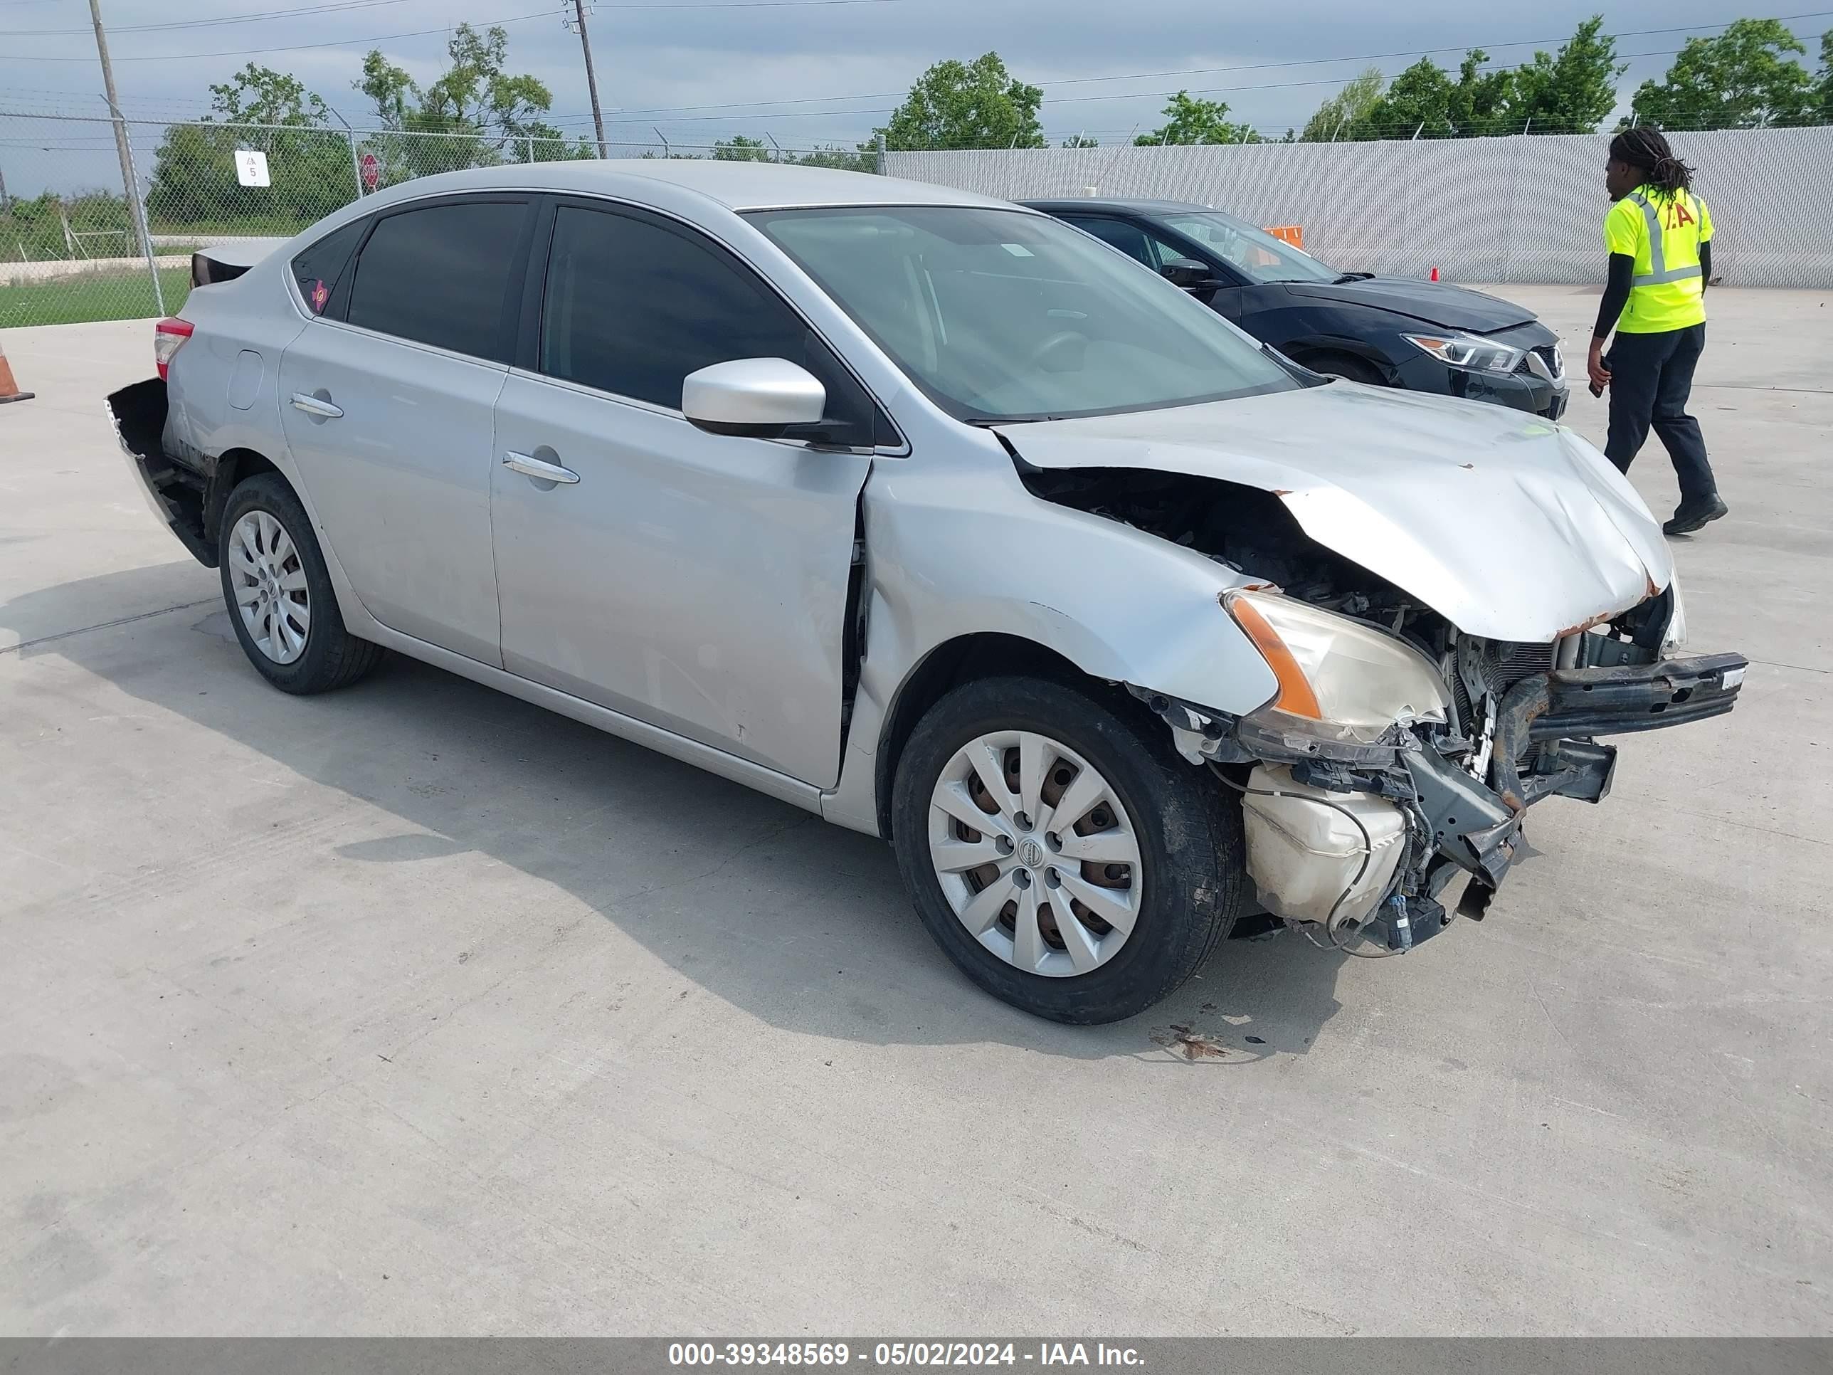
[[[407,134],[214,121],[121,121],[136,196],[123,194],[115,123],[0,112],[0,328],[172,314],[191,253],[225,240],[291,238],[365,194],[434,172],[596,158],[587,139]],[[266,185],[236,154],[260,152]],[[607,143],[609,158],[728,158],[867,167],[851,148]]]

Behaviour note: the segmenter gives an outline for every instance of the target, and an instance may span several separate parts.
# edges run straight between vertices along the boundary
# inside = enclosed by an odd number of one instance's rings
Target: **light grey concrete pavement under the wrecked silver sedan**
[[[1595,293],[1503,290],[1582,361]],[[1481,926],[1092,1030],[876,842],[400,658],[266,688],[101,412],[148,324],[7,332],[0,1331],[1833,1331],[1833,312],[1712,310],[1738,711]]]

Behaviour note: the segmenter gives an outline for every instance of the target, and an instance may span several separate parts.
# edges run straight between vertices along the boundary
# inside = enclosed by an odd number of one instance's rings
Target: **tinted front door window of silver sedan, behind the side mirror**
[[[541,370],[680,407],[689,372],[786,358],[827,387],[827,438],[873,442],[873,405],[827,346],[744,264],[649,220],[561,205],[554,218]]]

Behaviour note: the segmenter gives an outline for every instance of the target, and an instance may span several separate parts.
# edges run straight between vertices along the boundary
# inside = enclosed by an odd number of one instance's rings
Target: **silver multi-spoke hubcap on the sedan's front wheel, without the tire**
[[[1138,836],[1081,755],[1036,732],[964,744],[929,794],[929,858],[968,933],[1026,974],[1100,968],[1133,935]]]

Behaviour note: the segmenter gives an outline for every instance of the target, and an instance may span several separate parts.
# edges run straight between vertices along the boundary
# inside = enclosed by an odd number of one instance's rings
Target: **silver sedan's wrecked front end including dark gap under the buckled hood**
[[[1653,572],[1641,587],[1620,574],[1611,590],[1567,587],[1565,601],[1542,600],[1536,614],[1593,594],[1622,609],[1545,640],[1503,640],[1459,629],[1424,596],[1314,539],[1290,510],[1294,493],[1138,469],[1030,468],[1025,480],[1034,495],[1169,539],[1239,578],[1219,610],[1272,669],[1270,700],[1228,713],[1127,686],[1184,759],[1241,794],[1261,906],[1336,946],[1366,937],[1406,952],[1437,935],[1459,874],[1468,882],[1455,911],[1481,920],[1521,854],[1527,808],[1609,792],[1617,752],[1600,737],[1721,715],[1743,682],[1741,654],[1674,656],[1672,568],[1659,570],[1663,588]],[[1465,579],[1459,592],[1472,587]],[[1498,588],[1476,585],[1488,605],[1523,596],[1516,583]]]

